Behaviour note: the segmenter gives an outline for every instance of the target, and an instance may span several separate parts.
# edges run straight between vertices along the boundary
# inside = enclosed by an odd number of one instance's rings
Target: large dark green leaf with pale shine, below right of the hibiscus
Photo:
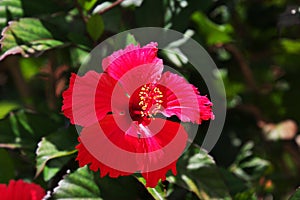
[[[196,151],[196,154],[191,155],[193,151]],[[199,148],[190,149],[179,159],[175,183],[195,193],[199,199],[230,197],[214,160],[207,152]]]

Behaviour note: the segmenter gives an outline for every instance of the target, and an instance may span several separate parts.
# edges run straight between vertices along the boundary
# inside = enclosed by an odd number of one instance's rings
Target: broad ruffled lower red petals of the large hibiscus
[[[159,179],[164,180],[168,170],[176,173],[174,162],[187,141],[184,128],[163,119],[152,120],[149,127],[144,128],[146,130],[131,126],[128,129],[131,133],[126,133],[117,126],[112,115],[99,124],[83,128],[81,143],[77,146],[80,166],[90,164],[92,170],[100,169],[101,176],[111,177],[140,171],[149,186],[154,186]]]

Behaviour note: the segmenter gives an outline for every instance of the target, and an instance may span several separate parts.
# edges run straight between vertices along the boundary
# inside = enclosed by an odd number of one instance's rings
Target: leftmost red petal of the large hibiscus
[[[89,126],[111,111],[111,94],[116,81],[107,74],[89,71],[80,77],[72,73],[63,92],[62,111],[72,124]]]

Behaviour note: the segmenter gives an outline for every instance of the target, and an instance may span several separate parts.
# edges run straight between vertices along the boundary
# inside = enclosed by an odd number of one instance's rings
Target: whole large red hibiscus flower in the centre
[[[176,174],[176,161],[186,147],[180,123],[213,119],[212,103],[183,77],[163,73],[157,44],[129,45],[103,59],[103,73],[72,74],[63,93],[62,111],[83,127],[77,160],[100,169],[101,177],[140,172],[155,187]]]

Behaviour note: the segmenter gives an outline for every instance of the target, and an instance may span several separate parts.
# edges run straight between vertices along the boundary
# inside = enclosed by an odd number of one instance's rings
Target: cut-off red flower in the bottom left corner
[[[11,180],[8,186],[0,184],[0,194],[2,200],[41,200],[45,190],[34,183]]]

